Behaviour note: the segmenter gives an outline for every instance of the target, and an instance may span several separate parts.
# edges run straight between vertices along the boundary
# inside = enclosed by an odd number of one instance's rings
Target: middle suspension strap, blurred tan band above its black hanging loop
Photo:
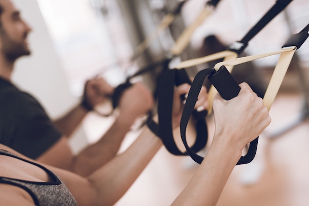
[[[205,20],[205,18],[210,15],[218,3],[219,0],[209,0],[207,2],[205,9],[201,11],[195,19],[195,22],[187,27],[177,38],[176,43],[170,49],[170,54],[172,56],[177,56],[183,52],[189,44],[193,32]],[[152,116],[150,116],[147,121],[147,125],[150,130],[162,139],[166,149],[174,155],[188,155],[188,152],[182,152],[178,149],[174,140],[172,128],[174,86],[178,86],[183,83],[191,84],[191,80],[184,69],[179,71],[175,69],[166,69],[162,72],[157,86],[158,124],[154,122]],[[207,111],[193,112],[193,117],[196,120],[196,139],[191,149],[196,152],[205,147],[207,143],[207,138],[205,138],[208,134],[205,121],[206,115]]]

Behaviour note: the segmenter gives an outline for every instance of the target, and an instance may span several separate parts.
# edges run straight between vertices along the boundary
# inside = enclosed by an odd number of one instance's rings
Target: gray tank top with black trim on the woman
[[[4,183],[15,185],[24,189],[31,195],[36,206],[77,206],[75,198],[68,190],[64,182],[62,182],[55,173],[51,172],[47,168],[37,163],[20,158],[17,155],[12,154],[6,150],[0,149],[0,155],[14,157],[24,162],[35,165],[47,172],[47,174],[52,179],[51,182],[33,182],[0,176],[0,184]]]

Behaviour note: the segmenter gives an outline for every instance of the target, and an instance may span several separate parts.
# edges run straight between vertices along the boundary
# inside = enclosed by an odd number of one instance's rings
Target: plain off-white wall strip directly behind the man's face
[[[50,117],[56,118],[79,100],[70,94],[65,72],[53,47],[37,0],[13,1],[33,29],[29,35],[32,55],[17,62],[13,82],[34,95]],[[81,142],[85,141],[82,130],[77,131],[75,137]]]

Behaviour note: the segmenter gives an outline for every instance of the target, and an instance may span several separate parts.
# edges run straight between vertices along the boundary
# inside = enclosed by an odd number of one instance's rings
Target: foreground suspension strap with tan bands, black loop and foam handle
[[[203,157],[197,155],[188,147],[188,143],[186,140],[186,127],[189,118],[192,114],[193,107],[197,101],[197,95],[201,89],[201,86],[206,76],[217,88],[219,94],[224,99],[229,100],[233,96],[236,96],[239,91],[237,92],[238,89],[235,85],[235,82],[232,80],[232,75],[226,69],[226,66],[235,66],[256,59],[268,57],[271,55],[281,54],[274,69],[274,72],[271,76],[269,86],[263,99],[264,105],[268,109],[270,109],[271,104],[273,103],[275,96],[277,95],[279,87],[282,83],[284,75],[290,65],[290,62],[296,49],[300,48],[300,46],[306,41],[306,39],[309,36],[308,30],[309,25],[307,25],[305,29],[303,29],[299,34],[291,35],[291,37],[286,41],[286,43],[282,46],[282,49],[279,51],[269,52],[260,55],[252,55],[230,61],[220,62],[215,65],[214,69],[203,69],[197,73],[192,82],[192,86],[187,98],[187,102],[184,107],[180,124],[180,133],[183,143],[187,151],[189,152],[190,156],[195,162],[200,164],[203,160]],[[254,159],[257,150],[257,144],[258,144],[258,137],[250,142],[247,154],[245,156],[241,156],[241,158],[237,162],[237,165],[249,163]]]

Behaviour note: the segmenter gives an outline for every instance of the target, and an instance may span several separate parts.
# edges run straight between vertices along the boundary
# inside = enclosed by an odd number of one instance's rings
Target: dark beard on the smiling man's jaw
[[[26,46],[11,40],[5,31],[2,30],[0,33],[0,38],[2,41],[2,53],[8,61],[14,62],[21,56],[31,54],[30,50],[26,48]]]

